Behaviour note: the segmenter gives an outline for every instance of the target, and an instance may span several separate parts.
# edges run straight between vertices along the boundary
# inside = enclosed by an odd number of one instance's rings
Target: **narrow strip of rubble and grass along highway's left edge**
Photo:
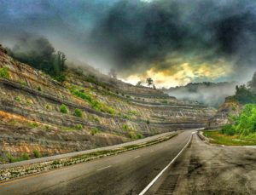
[[[125,145],[116,145],[113,147],[107,147],[106,149],[101,148],[98,150],[90,150],[84,152],[74,152],[69,153],[67,156],[70,157],[52,157],[46,158],[39,161],[40,163],[32,163],[32,162],[19,162],[15,166],[5,166],[0,165],[0,182],[1,181],[9,181],[11,179],[23,177],[26,175],[38,174],[40,172],[49,171],[52,169],[60,169],[63,167],[71,166],[77,163],[84,163],[90,160],[94,160],[97,158],[104,158],[112,155],[117,155],[122,152],[128,152],[131,150],[137,150],[139,148],[145,146],[152,146],[154,144],[158,144],[163,141],[168,141],[172,139],[172,137],[176,136],[177,133],[165,134],[161,136],[156,136],[154,139],[140,141],[137,143],[131,142],[131,144]],[[65,155],[64,155],[65,156]],[[22,164],[23,163],[23,164]]]

